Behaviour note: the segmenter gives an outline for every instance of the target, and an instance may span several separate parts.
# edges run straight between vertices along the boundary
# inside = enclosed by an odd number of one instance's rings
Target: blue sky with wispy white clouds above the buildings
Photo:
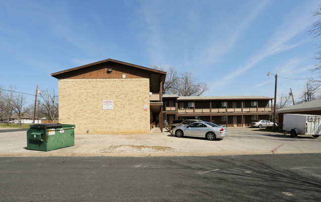
[[[58,91],[51,73],[115,59],[174,67],[204,96],[299,99],[320,38],[318,0],[0,0],[0,87]],[[271,72],[271,76],[267,76]],[[291,78],[291,79],[288,79]],[[28,101],[33,96],[26,95]]]

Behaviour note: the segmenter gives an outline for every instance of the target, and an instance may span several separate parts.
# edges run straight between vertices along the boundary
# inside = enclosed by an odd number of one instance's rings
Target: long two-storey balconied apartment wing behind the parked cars
[[[183,116],[196,115],[228,127],[249,126],[253,120],[272,118],[273,100],[265,96],[163,95],[163,119],[172,123]]]

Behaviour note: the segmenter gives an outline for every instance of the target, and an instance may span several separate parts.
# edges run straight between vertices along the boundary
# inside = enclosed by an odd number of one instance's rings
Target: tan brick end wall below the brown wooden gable
[[[149,79],[59,79],[58,94],[59,122],[75,124],[75,133],[150,133]]]

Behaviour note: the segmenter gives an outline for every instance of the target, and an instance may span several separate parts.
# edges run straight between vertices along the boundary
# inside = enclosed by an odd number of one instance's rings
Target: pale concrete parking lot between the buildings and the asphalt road
[[[224,139],[177,138],[154,129],[148,135],[76,134],[75,146],[42,152],[27,150],[26,132],[0,133],[0,156],[203,156],[321,153],[321,138],[291,138],[256,128],[228,128]]]

